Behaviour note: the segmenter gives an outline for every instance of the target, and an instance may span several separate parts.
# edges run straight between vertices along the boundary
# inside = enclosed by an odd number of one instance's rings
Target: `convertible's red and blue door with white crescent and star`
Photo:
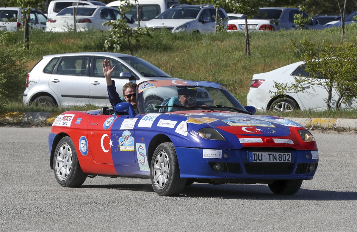
[[[136,166],[134,125],[140,115],[96,115],[88,122],[88,146],[99,164]]]

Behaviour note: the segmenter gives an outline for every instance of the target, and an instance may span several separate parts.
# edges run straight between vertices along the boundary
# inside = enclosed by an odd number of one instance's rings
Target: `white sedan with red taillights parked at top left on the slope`
[[[66,32],[74,29],[73,8],[76,9],[76,29],[84,31],[89,29],[108,30],[111,26],[103,23],[109,20],[121,19],[120,11],[108,6],[69,6],[61,10],[56,16],[47,19],[46,31]],[[137,27],[135,20],[125,17],[130,27]]]

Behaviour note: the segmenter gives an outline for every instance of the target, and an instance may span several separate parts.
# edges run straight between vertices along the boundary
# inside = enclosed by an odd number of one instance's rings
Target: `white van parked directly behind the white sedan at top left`
[[[86,6],[86,5],[96,5],[96,6],[105,6],[105,3],[100,1],[92,0],[54,0],[50,1],[50,4],[47,7],[47,17],[56,16],[61,10],[69,6]]]

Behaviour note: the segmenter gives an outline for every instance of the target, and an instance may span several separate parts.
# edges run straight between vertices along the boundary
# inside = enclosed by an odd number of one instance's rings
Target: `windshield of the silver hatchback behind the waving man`
[[[170,77],[169,74],[151,63],[134,56],[119,57],[119,59],[128,63],[144,77]]]

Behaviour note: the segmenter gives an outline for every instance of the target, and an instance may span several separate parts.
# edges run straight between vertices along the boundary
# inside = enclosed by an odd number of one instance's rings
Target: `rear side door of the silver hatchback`
[[[61,105],[89,103],[89,61],[90,56],[62,57],[49,81]]]

